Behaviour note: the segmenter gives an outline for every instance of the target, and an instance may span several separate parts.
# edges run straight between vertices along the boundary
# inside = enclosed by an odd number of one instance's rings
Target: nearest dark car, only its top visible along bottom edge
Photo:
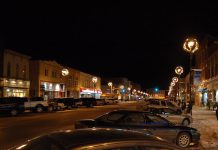
[[[118,129],[59,131],[34,138],[11,150],[179,150],[159,137]]]

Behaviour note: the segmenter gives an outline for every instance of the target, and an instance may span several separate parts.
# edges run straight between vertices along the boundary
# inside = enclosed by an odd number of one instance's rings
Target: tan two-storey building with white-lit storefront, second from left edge
[[[30,61],[30,96],[44,99],[65,97],[65,81],[62,76],[64,68],[56,61]]]

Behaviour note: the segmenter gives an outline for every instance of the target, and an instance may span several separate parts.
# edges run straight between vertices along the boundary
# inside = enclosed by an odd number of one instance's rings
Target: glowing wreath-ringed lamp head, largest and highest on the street
[[[194,53],[198,48],[198,41],[194,38],[187,38],[183,44],[183,49],[189,53]]]

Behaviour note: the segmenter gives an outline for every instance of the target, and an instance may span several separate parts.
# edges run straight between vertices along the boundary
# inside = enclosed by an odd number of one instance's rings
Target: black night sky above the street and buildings
[[[176,66],[188,72],[185,38],[217,36],[217,20],[217,5],[206,2],[7,2],[0,38],[5,48],[33,58],[167,89]]]

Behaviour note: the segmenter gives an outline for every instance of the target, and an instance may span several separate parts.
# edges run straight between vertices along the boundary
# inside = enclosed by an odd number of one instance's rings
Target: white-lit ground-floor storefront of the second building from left
[[[40,96],[45,99],[65,97],[65,84],[41,82]]]

